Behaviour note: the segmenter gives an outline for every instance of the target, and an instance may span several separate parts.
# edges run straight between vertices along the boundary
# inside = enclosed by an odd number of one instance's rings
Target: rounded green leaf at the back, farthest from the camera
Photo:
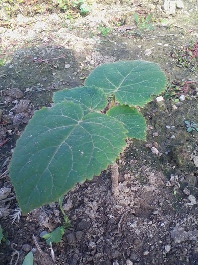
[[[142,60],[118,61],[97,67],[87,78],[86,86],[96,86],[122,105],[143,106],[151,95],[165,90],[167,78],[156,63]]]

